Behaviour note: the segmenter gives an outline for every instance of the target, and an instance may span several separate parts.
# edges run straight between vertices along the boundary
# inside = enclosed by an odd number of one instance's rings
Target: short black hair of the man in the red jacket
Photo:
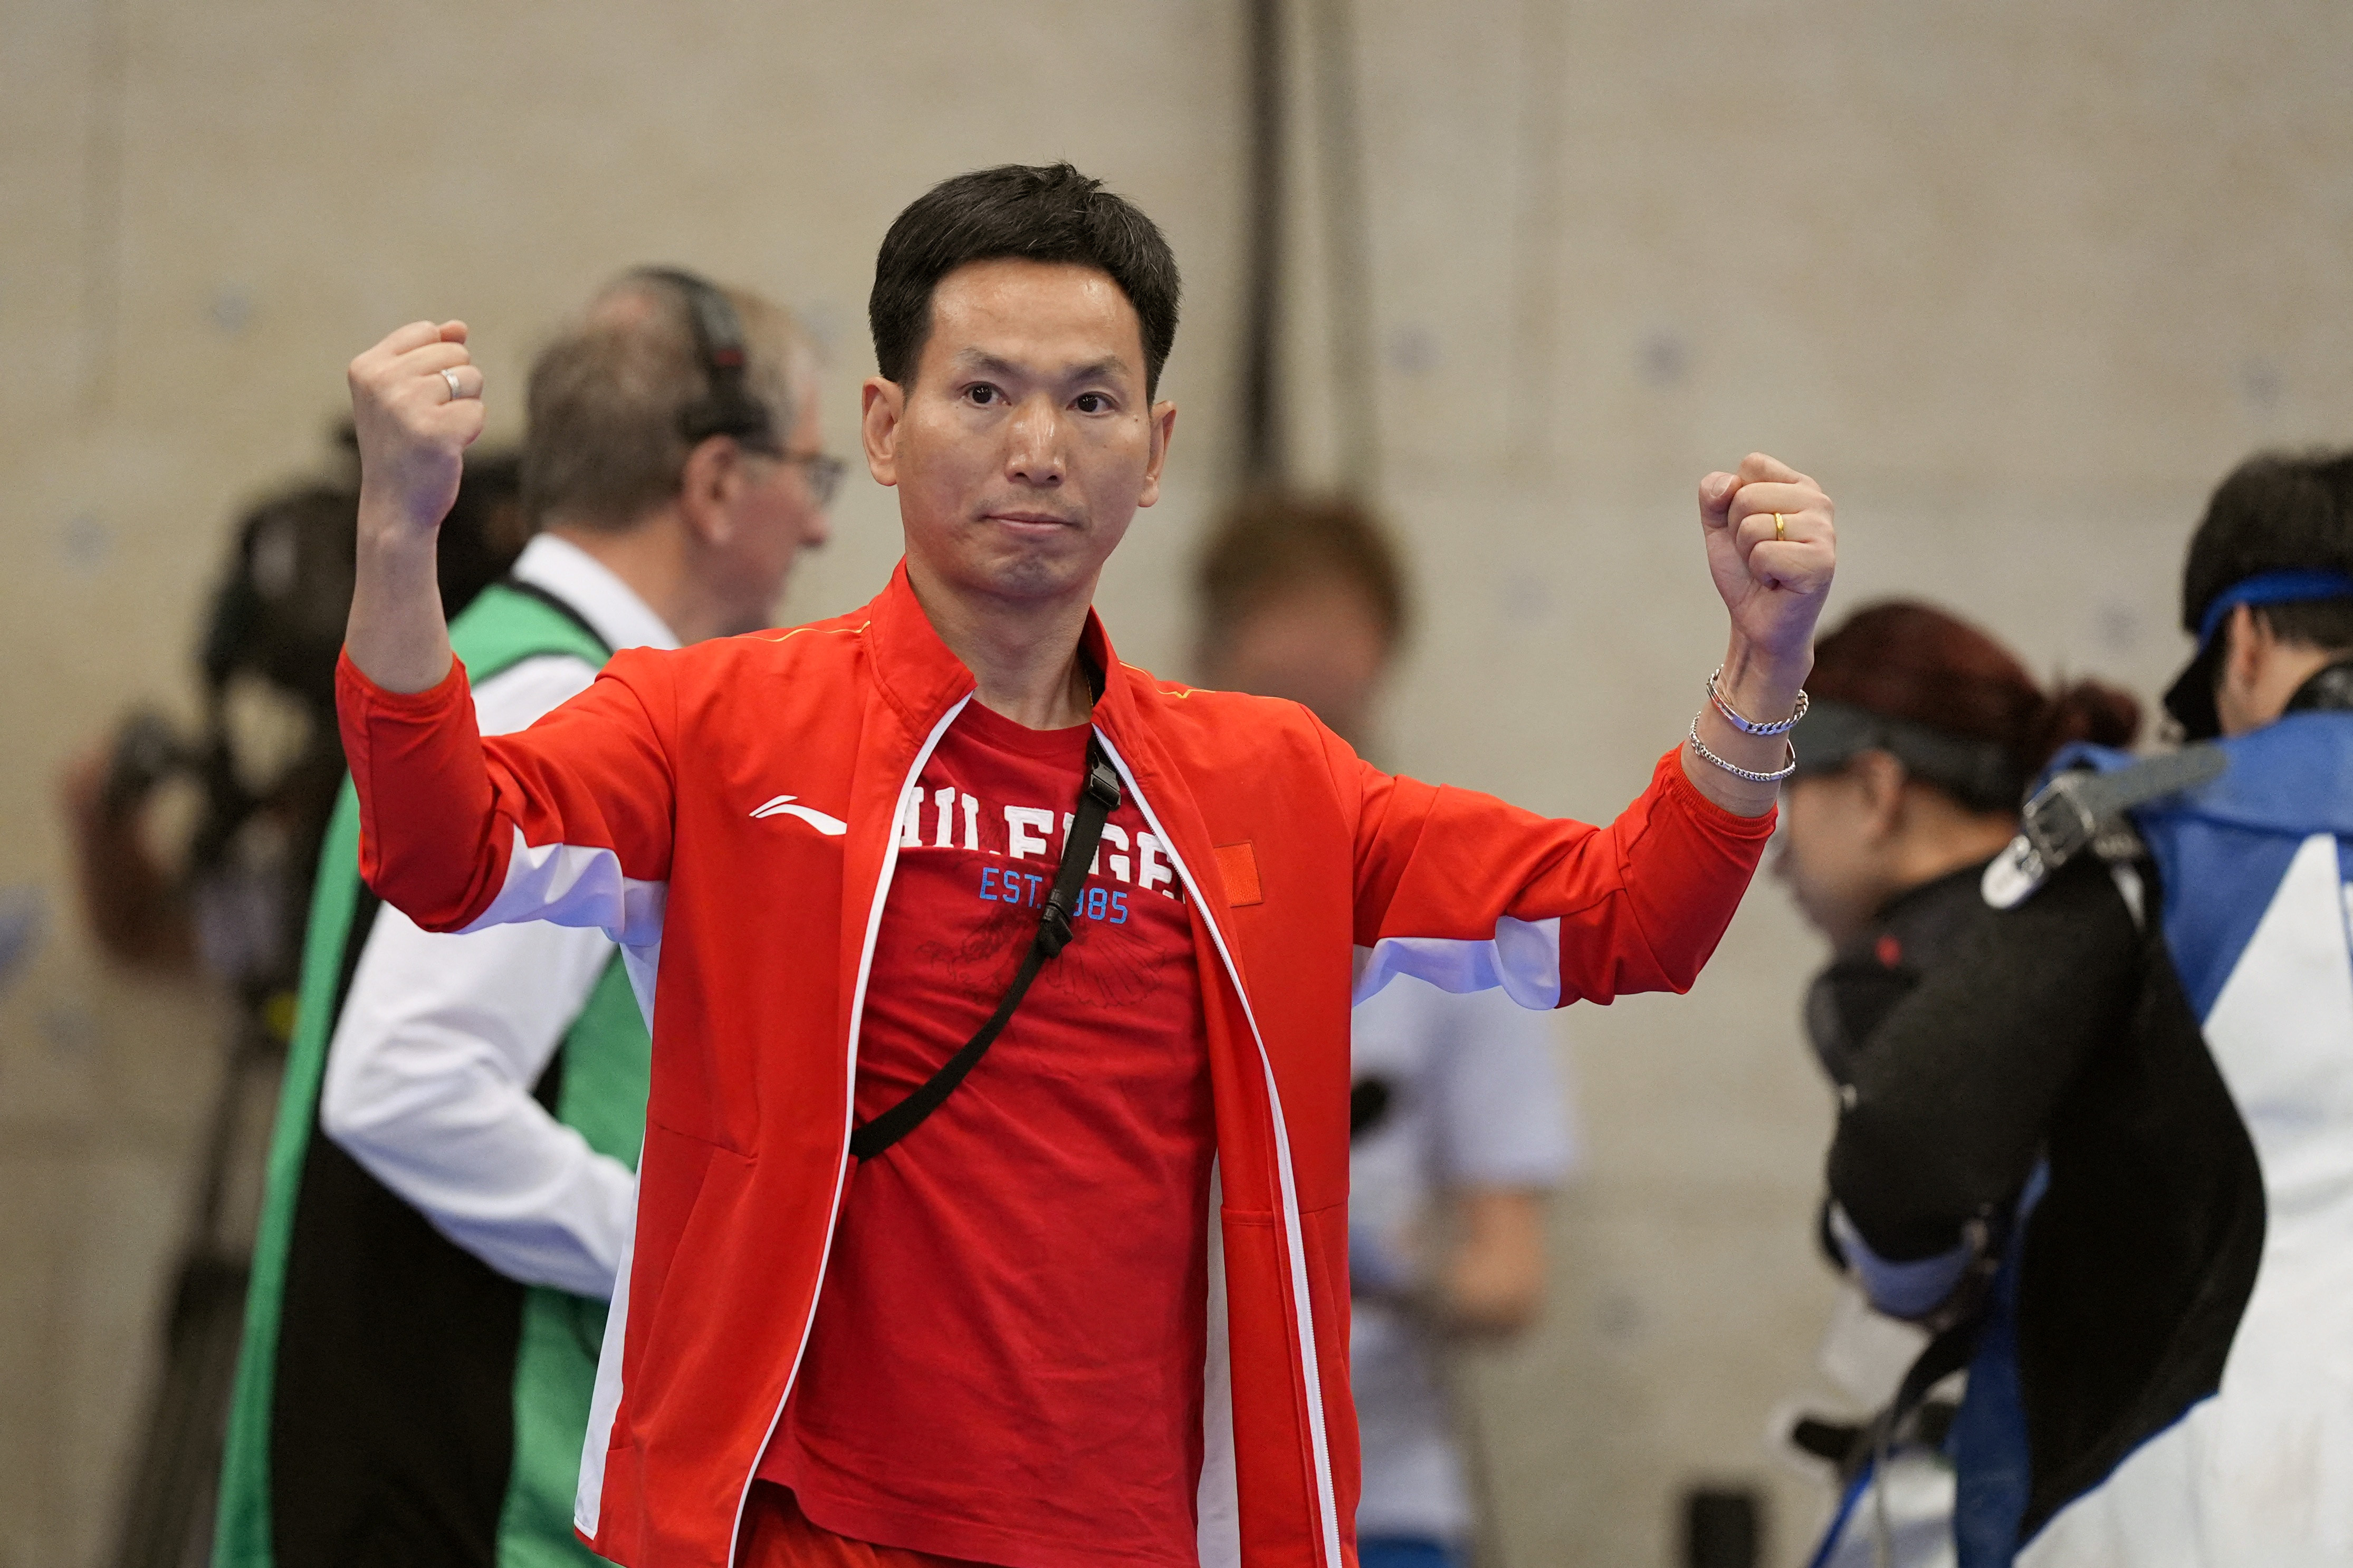
[[[1176,343],[1176,254],[1134,202],[1066,162],[1009,162],[944,179],[892,221],[866,296],[885,381],[913,378],[939,280],[1005,256],[1092,266],[1120,284],[1144,327],[1144,395],[1160,390],[1160,367]]]

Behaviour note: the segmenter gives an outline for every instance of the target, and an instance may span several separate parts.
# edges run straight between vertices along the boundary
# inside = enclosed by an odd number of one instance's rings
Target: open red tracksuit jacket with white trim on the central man
[[[1085,646],[1096,733],[1188,891],[1209,1034],[1202,1563],[1344,1568],[1351,994],[1685,990],[1772,818],[1668,752],[1612,825],[1546,820],[1386,776],[1297,703],[1158,682],[1092,616]],[[720,1568],[824,1284],[899,809],[972,675],[901,567],[838,621],[621,654],[513,736],[478,738],[464,670],[395,696],[346,661],[339,696],[386,903],[631,952],[654,1074],[576,1523],[619,1563]]]

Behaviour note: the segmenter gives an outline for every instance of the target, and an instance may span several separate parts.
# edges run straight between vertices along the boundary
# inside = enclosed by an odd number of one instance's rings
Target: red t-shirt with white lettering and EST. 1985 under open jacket
[[[932,1077],[1038,929],[1087,729],[965,708],[901,811],[856,1112]],[[1184,889],[1111,813],[1075,936],[979,1067],[854,1166],[760,1476],[826,1530],[1002,1563],[1198,1561],[1214,1131]]]

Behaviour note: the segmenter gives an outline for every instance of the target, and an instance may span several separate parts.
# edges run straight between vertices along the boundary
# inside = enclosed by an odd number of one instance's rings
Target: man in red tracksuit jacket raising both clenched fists
[[[428,929],[612,933],[654,1032],[579,1530],[645,1568],[1344,1568],[1351,994],[1692,983],[1772,827],[1831,503],[1762,456],[1701,482],[1715,698],[1612,825],[1544,820],[1111,651],[1094,585],[1176,421],[1141,212],[1068,167],[951,179],[885,237],[871,322],[882,595],[621,654],[489,741],[433,592],[466,329],[351,367],[367,879]],[[854,1145],[1016,971],[969,1077]]]

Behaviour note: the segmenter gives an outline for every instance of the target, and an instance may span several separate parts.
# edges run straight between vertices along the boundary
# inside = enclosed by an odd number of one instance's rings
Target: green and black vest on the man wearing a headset
[[[449,628],[475,682],[609,649],[529,590]],[[520,1286],[318,1135],[327,1044],[372,929],[351,780],[327,827],[221,1467],[214,1568],[581,1568],[572,1493],[605,1302]],[[652,1044],[614,952],[534,1093],[631,1168]]]

